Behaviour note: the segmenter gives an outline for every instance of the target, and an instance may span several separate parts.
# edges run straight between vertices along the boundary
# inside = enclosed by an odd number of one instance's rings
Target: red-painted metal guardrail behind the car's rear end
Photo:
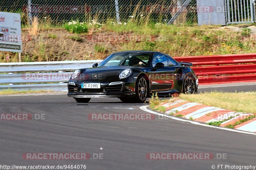
[[[256,81],[256,53],[174,58],[193,63],[200,84]]]

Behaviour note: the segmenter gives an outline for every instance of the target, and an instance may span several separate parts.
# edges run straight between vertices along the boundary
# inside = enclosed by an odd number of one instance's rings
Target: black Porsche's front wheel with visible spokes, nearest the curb
[[[135,98],[138,103],[144,103],[148,96],[148,82],[144,76],[139,76],[135,84]]]

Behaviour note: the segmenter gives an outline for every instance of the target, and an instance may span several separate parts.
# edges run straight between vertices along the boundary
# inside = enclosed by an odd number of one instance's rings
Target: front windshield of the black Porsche
[[[99,66],[133,66],[148,67],[151,54],[139,52],[123,52],[108,56]]]

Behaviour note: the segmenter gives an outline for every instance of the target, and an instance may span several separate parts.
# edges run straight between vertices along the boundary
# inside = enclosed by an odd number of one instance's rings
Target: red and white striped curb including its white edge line
[[[165,114],[168,114],[168,115],[160,114],[160,113],[154,112],[152,110],[149,110],[149,109],[147,109],[148,106],[142,106],[142,107],[140,107],[140,109],[144,110],[146,112],[152,113],[152,114],[165,116],[165,117],[183,121],[183,122],[190,122],[193,124],[208,126],[208,127],[217,128],[217,129],[224,129],[224,130],[228,130],[228,131],[235,131],[235,132],[239,132],[239,133],[256,135],[256,133],[255,133],[256,132],[255,118],[253,118],[247,122],[243,122],[239,125],[236,125],[234,127],[234,129],[224,128],[225,126],[227,126],[229,124],[234,124],[235,122],[237,122],[239,120],[243,120],[246,117],[254,115],[251,113],[250,114],[238,113],[238,112],[234,112],[231,110],[222,109],[222,108],[218,108],[218,107],[210,107],[210,106],[206,106],[203,104],[190,103],[185,100],[180,100],[180,99],[176,99],[176,98],[170,99],[169,102],[161,103],[157,107],[160,107],[160,106],[166,107]],[[174,117],[171,115],[182,115],[182,117],[187,118],[187,119],[193,119],[193,121],[180,119],[178,117]],[[234,118],[227,120],[231,116]],[[222,122],[220,126],[204,124],[204,123],[218,122],[218,121],[223,121],[223,120],[227,120],[227,121]],[[203,123],[200,123],[200,122],[203,122]]]

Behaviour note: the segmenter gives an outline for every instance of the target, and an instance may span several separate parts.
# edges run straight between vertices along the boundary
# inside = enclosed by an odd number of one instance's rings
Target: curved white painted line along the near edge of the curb
[[[145,112],[148,112],[148,113],[168,117],[170,119],[174,119],[174,120],[177,120],[177,121],[189,122],[189,123],[192,123],[192,124],[195,124],[195,125],[206,126],[206,127],[215,128],[215,129],[228,130],[228,131],[231,131],[231,132],[238,132],[238,133],[244,133],[244,134],[249,134],[249,135],[256,135],[256,133],[252,133],[252,132],[245,132],[245,131],[240,131],[240,130],[236,130],[236,129],[222,128],[222,127],[218,127],[218,126],[207,125],[207,124],[203,124],[203,123],[199,123],[199,122],[194,122],[194,121],[184,120],[184,119],[180,119],[180,118],[173,117],[173,116],[164,115],[164,114],[157,113],[157,112],[154,112],[152,110],[149,110],[149,109],[147,109],[147,107],[148,106],[141,106],[140,109],[145,111]]]

